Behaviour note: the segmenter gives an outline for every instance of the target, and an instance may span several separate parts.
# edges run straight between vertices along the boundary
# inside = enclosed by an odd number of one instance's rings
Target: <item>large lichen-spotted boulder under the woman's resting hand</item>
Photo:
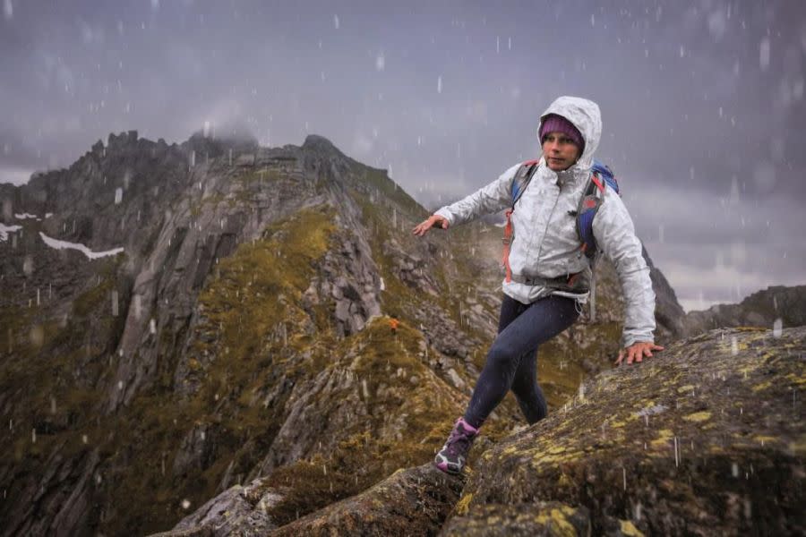
[[[804,350],[806,327],[715,330],[598,375],[478,459],[444,534],[541,534],[546,502],[569,534],[586,511],[593,534],[804,533]]]

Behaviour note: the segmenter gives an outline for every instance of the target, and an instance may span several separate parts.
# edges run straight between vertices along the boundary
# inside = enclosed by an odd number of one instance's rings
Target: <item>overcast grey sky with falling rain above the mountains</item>
[[[245,122],[435,208],[536,157],[538,116],[577,95],[684,307],[806,280],[801,0],[0,4],[0,182],[109,132]]]

